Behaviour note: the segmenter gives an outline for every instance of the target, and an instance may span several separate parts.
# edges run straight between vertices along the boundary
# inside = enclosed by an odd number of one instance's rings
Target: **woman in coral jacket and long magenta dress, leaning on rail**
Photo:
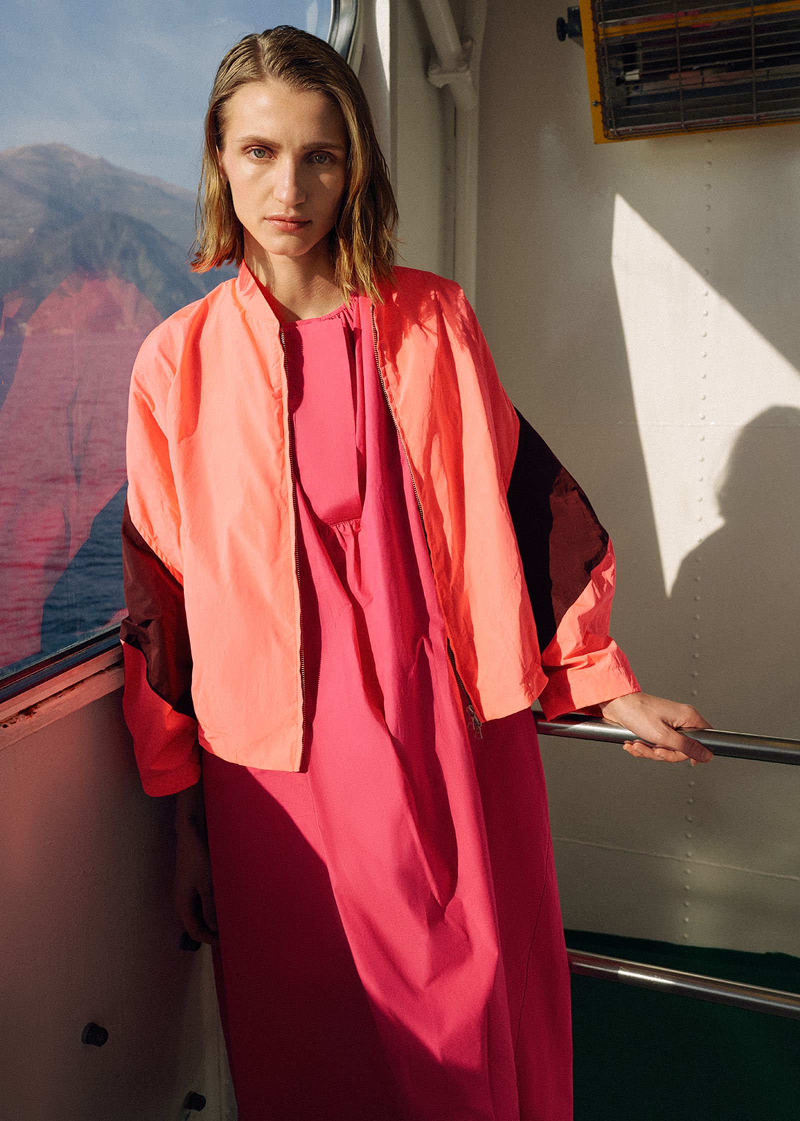
[[[531,702],[692,765],[710,753],[676,729],[705,722],[608,637],[607,535],[461,289],[394,268],[331,47],[275,28],[229,52],[204,184],[194,267],[239,276],[137,360],[122,639],[240,1121],[567,1119]]]

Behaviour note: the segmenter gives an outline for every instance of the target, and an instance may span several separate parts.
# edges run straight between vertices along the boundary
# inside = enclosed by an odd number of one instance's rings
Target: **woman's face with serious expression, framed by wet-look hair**
[[[220,164],[244,228],[248,265],[266,253],[329,267],[327,234],[346,180],[338,105],[282,82],[250,82],[227,102],[222,126]]]

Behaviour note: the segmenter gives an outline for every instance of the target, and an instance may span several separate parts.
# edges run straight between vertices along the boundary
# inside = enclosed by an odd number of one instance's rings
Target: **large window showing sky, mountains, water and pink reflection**
[[[354,9],[353,0],[46,9],[9,0],[0,68],[7,695],[43,664],[55,671],[62,655],[74,660],[111,645],[124,615],[119,528],[131,365],[157,323],[225,278],[187,265],[218,61],[243,35],[281,22],[346,54]]]

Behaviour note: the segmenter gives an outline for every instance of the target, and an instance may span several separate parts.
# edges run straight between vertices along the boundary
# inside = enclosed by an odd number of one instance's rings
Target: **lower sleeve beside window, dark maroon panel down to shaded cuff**
[[[125,723],[147,794],[175,794],[201,775],[184,590],[137,530],[128,503],[122,569],[128,608],[120,626]]]

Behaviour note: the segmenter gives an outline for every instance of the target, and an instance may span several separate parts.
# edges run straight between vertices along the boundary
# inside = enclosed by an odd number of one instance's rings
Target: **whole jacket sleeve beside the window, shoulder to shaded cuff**
[[[201,775],[179,504],[165,435],[170,380],[169,365],[150,336],[137,359],[129,399],[129,482],[122,518],[128,617],[120,627],[123,713],[141,782],[150,795],[175,794]]]

